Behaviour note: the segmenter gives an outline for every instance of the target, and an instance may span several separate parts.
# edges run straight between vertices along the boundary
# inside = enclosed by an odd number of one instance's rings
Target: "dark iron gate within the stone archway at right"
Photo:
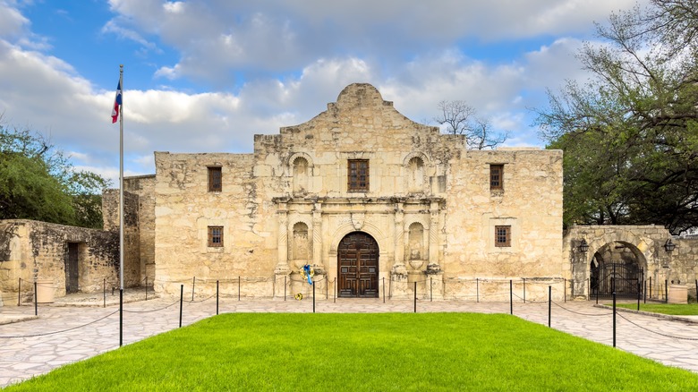
[[[635,264],[601,263],[598,268],[592,266],[592,296],[637,298],[642,295],[643,269]]]

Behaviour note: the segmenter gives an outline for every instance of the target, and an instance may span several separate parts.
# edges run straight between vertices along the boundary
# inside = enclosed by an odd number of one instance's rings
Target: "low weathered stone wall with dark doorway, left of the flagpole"
[[[79,289],[84,293],[118,286],[118,235],[102,230],[32,220],[0,221],[0,291],[30,301],[33,282],[48,279],[55,296],[64,296],[68,243],[77,243]]]

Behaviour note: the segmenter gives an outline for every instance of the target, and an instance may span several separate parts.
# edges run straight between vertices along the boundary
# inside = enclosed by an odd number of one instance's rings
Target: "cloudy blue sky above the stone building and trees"
[[[532,107],[584,80],[593,22],[635,0],[0,0],[4,126],[45,134],[118,183],[111,107],[123,64],[126,175],[153,151],[251,152],[252,135],[301,124],[353,82],[433,123],[462,99],[542,146]]]

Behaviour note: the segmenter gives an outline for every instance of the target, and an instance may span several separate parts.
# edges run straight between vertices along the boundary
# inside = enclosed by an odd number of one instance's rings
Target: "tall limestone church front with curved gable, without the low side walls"
[[[368,84],[348,86],[307,123],[255,135],[251,154],[156,152],[155,161],[161,293],[194,277],[207,293],[218,280],[236,294],[238,279],[243,295],[308,292],[298,271],[309,263],[322,292],[365,283],[368,296],[385,285],[399,296],[416,282],[444,298],[474,293],[476,278],[508,293],[506,279],[531,277],[539,296],[548,284],[563,295],[562,152],[465,149],[464,136],[414,123]],[[342,260],[353,257],[370,259],[372,281],[347,280]]]

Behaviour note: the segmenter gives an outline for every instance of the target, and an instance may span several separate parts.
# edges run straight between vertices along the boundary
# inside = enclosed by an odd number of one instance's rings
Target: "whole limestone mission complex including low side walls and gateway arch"
[[[531,299],[547,298],[549,285],[555,300],[589,298],[610,263],[655,283],[698,272],[698,246],[675,238],[672,259],[660,227],[573,226],[564,236],[562,151],[466,149],[463,135],[413,122],[370,84],[347,86],[306,123],[255,135],[250,154],[156,152],[155,163],[155,175],[124,180],[124,259],[127,285],[160,294],[194,282],[199,294],[217,282],[230,295],[308,293],[305,264],[320,292],[339,297],[408,297],[416,287],[473,301],[508,300],[511,280]],[[117,211],[107,192],[106,233],[118,231]],[[115,284],[118,257],[98,245],[83,242],[80,281],[61,269],[60,251],[42,261],[38,235],[16,228],[27,221],[0,224],[0,291],[42,277],[56,295],[71,279],[89,290],[90,272]]]

